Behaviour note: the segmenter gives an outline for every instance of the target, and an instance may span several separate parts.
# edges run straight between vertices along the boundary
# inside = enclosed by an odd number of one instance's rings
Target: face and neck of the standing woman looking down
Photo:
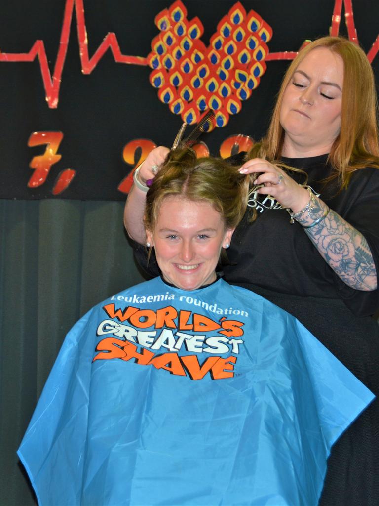
[[[341,128],[344,63],[327,48],[313,49],[295,70],[283,95],[283,155],[328,153]]]

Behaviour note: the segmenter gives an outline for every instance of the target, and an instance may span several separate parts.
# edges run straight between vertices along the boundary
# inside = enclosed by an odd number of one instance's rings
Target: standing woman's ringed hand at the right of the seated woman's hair
[[[309,193],[298,185],[286,172],[262,158],[252,158],[245,162],[239,172],[257,174],[255,185],[263,184],[257,191],[262,195],[271,195],[283,207],[289,207],[294,213],[303,209],[309,201]]]

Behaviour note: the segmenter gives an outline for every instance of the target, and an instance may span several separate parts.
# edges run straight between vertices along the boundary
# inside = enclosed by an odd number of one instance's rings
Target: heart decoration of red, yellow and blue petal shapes
[[[197,123],[213,109],[215,126],[225,126],[241,111],[266,70],[266,42],[271,27],[237,2],[217,25],[208,48],[200,40],[204,27],[198,17],[188,21],[180,0],[155,17],[160,33],[148,55],[150,83],[159,99],[183,121]],[[209,130],[211,130],[210,127]]]

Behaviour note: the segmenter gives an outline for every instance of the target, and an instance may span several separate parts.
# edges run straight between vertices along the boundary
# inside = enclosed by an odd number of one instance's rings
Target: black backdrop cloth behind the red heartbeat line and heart
[[[116,63],[110,50],[92,72],[81,71],[75,8],[67,56],[64,62],[58,107],[49,108],[39,60],[7,62],[7,54],[28,53],[35,41],[43,40],[54,73],[60,46],[66,3],[72,0],[17,0],[2,2],[0,15],[0,198],[74,198],[123,200],[117,190],[132,166],[123,160],[123,147],[133,139],[147,138],[169,145],[181,118],[160,102],[149,82],[147,66]],[[83,0],[82,0],[83,2]],[[342,3],[342,0],[336,0]],[[76,2],[77,5],[80,5]],[[159,34],[155,16],[169,0],[84,0],[88,52],[93,56],[108,32],[116,34],[121,53],[147,57],[151,40]],[[186,0],[188,20],[199,16],[204,25],[202,40],[208,45],[219,20],[235,4],[230,0]],[[305,39],[329,31],[334,0],[244,0],[246,11],[254,9],[273,29],[270,53],[298,51]],[[347,2],[347,5],[351,4]],[[75,5],[75,2],[74,2]],[[367,53],[379,33],[379,3],[353,0],[358,40]],[[347,34],[344,4],[340,33]],[[288,61],[267,61],[267,71],[242,111],[230,116],[224,128],[215,129],[204,141],[217,155],[221,142],[234,134],[260,138],[267,126],[275,92]],[[379,56],[373,60],[379,68]],[[27,187],[32,175],[29,162],[42,154],[44,146],[28,147],[32,132],[60,131],[64,134],[46,182]],[[58,174],[65,168],[76,171],[70,186],[58,197],[52,194]]]

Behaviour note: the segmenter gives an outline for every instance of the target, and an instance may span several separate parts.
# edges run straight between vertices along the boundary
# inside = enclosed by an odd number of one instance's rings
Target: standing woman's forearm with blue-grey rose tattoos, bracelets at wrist
[[[326,204],[315,198],[302,225],[311,225],[320,218]],[[325,262],[350,287],[357,290],[375,290],[376,270],[370,248],[363,235],[330,209],[320,223],[304,229]]]

